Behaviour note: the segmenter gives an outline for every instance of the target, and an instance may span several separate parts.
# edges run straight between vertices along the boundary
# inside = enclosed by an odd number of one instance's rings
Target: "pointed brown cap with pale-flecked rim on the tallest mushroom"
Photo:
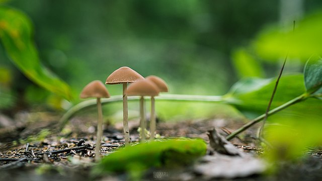
[[[129,67],[121,67],[112,72],[106,79],[105,84],[132,83],[143,80],[144,77]]]

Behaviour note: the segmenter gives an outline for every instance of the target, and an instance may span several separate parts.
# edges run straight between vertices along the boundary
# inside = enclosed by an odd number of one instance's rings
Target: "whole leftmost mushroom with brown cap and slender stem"
[[[91,81],[87,84],[79,96],[82,99],[86,98],[96,98],[97,99],[97,110],[98,110],[98,123],[97,123],[97,138],[96,138],[96,150],[95,150],[95,160],[100,160],[100,146],[101,139],[103,135],[103,113],[102,113],[102,104],[101,98],[109,98],[110,94],[107,91],[107,88],[100,80]]]

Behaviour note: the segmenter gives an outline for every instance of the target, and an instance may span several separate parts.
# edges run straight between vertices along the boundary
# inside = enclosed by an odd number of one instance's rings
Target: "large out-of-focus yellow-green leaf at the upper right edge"
[[[275,25],[261,31],[254,41],[258,55],[265,59],[278,60],[289,54],[290,57],[306,60],[312,54],[322,54],[322,12],[306,16],[296,22],[295,31],[281,29]],[[292,59],[290,59],[292,60]],[[296,59],[294,59],[296,60]]]

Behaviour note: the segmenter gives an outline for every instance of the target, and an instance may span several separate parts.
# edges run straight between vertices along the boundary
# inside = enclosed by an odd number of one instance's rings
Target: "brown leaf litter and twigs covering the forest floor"
[[[58,126],[54,122],[55,120],[46,121],[45,123],[33,122],[32,124],[25,124],[24,135],[17,134],[17,130],[11,128],[16,137],[11,137],[10,139],[6,139],[6,136],[0,132],[1,180],[12,178],[13,175],[15,175],[15,180],[26,180],[28,178],[38,178],[39,180],[93,179],[90,175],[90,170],[95,165],[95,129],[93,131],[95,120],[93,121],[86,117],[75,117],[67,125],[64,133],[55,132]],[[138,125],[138,120],[132,120],[132,124],[134,126],[131,130],[131,141],[132,144],[136,144],[139,141],[137,126],[135,126]],[[224,136],[229,134],[230,130],[234,130],[242,124],[243,121],[241,120],[236,121],[226,118],[159,122],[157,133],[162,137],[202,138],[208,143],[207,154],[194,164],[181,168],[151,167],[142,175],[142,179],[209,180],[219,178],[222,180],[243,180],[245,178],[245,180],[248,180],[252,178],[253,180],[281,180],[283,178],[283,180],[292,180],[293,177],[290,175],[285,176],[285,172],[283,174],[278,172],[274,176],[262,174],[266,169],[266,163],[260,159],[263,149],[255,146],[256,140],[252,137],[252,135],[255,135],[257,128],[247,130],[242,138],[234,138],[231,142],[224,139]],[[21,127],[20,125],[19,129]],[[216,132],[212,130],[214,127],[217,128]],[[30,139],[30,137],[39,136],[39,130],[43,129],[50,130],[50,133],[44,139]],[[208,132],[209,130],[212,131]],[[8,130],[3,133],[10,135]],[[221,143],[218,145],[210,141],[209,144],[209,138],[211,139],[211,137],[214,137],[214,140],[220,140],[219,142]],[[16,140],[16,142],[6,142],[4,140]],[[123,147],[124,137],[122,130],[106,123],[102,140],[101,154],[111,154]],[[220,145],[226,151],[218,151]],[[227,154],[227,152],[233,154]],[[310,152],[305,153],[310,156],[304,163],[300,166],[285,164],[283,171],[288,173],[296,170],[296,174],[299,174],[300,171],[297,169],[300,169],[302,172],[314,173],[314,178],[319,176],[319,178],[322,178],[322,175],[317,171],[317,168],[322,167],[321,153],[320,149],[311,149]],[[312,166],[310,163],[314,163],[314,165]],[[163,173],[163,176],[155,177],[155,172]],[[99,179],[124,180],[128,178],[127,173],[122,172],[104,175]]]

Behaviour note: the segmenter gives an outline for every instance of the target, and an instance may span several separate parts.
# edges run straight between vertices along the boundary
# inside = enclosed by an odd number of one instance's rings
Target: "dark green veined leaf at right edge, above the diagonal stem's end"
[[[322,93],[322,58],[316,55],[310,57],[303,73],[306,92],[309,94]]]

